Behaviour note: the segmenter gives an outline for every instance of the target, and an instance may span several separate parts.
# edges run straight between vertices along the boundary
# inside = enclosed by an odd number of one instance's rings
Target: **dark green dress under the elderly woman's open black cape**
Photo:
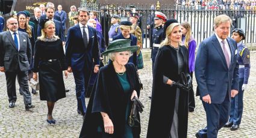
[[[130,86],[130,83],[128,82],[126,72],[119,73],[119,74],[116,73],[116,74],[117,74],[117,77],[122,85],[123,91],[125,92],[125,97],[128,100],[127,106],[126,106],[126,112],[125,112],[125,122],[127,122],[128,117],[131,112],[131,108],[130,108],[131,97],[129,97],[129,92],[130,92],[131,86]],[[133,138],[133,131],[127,123],[125,124],[125,134],[124,134],[123,138]]]

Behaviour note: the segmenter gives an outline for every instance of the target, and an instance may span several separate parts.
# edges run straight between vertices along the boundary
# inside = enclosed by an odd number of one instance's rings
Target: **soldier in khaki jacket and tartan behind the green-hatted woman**
[[[140,51],[142,49],[143,42],[142,42],[142,30],[138,25],[139,18],[140,17],[138,13],[130,13],[130,22],[133,24],[131,26],[130,33],[136,36],[137,46],[139,46],[139,49],[137,50],[137,69],[138,70],[143,68],[142,52]]]

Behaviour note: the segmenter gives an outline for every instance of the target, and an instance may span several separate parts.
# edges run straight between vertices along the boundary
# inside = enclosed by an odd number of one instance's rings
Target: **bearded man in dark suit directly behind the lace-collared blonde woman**
[[[58,37],[61,38],[61,40],[63,41],[63,44],[64,44],[64,42],[65,42],[64,32],[63,32],[63,29],[62,29],[61,22],[54,19],[54,8],[48,7],[48,8],[46,8],[45,11],[46,11],[46,19],[53,20],[54,23],[55,23],[55,35],[58,35]],[[41,16],[40,20],[43,20],[42,16]],[[41,30],[42,30],[42,28],[39,25],[38,29],[37,29],[37,35],[38,36],[41,35]]]

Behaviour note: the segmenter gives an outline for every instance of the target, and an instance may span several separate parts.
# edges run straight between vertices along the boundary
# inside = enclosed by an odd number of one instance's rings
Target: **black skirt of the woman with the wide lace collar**
[[[41,61],[39,65],[40,100],[58,101],[66,97],[60,61]]]

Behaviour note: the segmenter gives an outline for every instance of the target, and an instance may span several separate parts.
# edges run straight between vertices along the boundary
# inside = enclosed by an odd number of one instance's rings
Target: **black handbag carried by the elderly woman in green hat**
[[[140,126],[140,119],[139,119],[139,112],[143,112],[143,104],[140,103],[137,97],[133,97],[133,105],[131,107],[131,113],[128,118],[128,125],[130,127],[139,127]]]

